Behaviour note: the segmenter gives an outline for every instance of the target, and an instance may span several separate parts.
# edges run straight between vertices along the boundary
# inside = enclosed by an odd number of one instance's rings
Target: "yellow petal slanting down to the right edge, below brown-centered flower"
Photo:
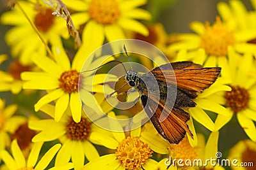
[[[253,121],[241,113],[237,113],[237,120],[248,137],[256,142],[256,129]]]

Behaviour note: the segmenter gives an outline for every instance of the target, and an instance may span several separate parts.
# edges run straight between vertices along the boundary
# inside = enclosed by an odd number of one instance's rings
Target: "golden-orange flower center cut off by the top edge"
[[[90,17],[99,24],[113,24],[120,17],[118,3],[115,0],[92,0],[89,6]]]

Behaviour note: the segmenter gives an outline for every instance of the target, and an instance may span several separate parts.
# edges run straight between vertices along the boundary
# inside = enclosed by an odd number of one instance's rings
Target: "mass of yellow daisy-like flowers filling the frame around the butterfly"
[[[251,10],[240,0],[220,1],[213,23],[194,21],[193,33],[170,34],[156,18],[175,5],[172,0],[6,0],[1,5],[6,9],[0,26],[9,25],[1,40],[10,57],[0,54],[0,169],[255,169],[255,0]],[[209,88],[188,92],[196,96],[195,107],[182,108],[180,117],[170,113],[177,119],[188,113],[185,122],[193,136],[170,143],[149,118],[144,121],[140,96],[127,89],[131,81],[109,70],[128,53],[148,69],[163,60],[144,60],[125,46],[120,52],[118,43],[111,44],[120,39],[146,41],[168,62],[221,67]],[[109,43],[110,53],[104,48]],[[120,109],[125,102],[133,106]],[[182,126],[176,126],[180,132]],[[236,165],[205,164],[211,159],[236,160]]]

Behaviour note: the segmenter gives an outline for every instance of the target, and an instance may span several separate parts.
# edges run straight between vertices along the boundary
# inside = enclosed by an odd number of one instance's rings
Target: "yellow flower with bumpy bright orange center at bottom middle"
[[[116,118],[113,112],[109,117]],[[124,132],[122,126],[115,120],[110,120],[109,124],[119,128],[120,131],[106,131],[99,129],[92,132],[92,142],[114,149],[115,153],[104,155],[86,164],[83,169],[156,169],[156,160],[152,157],[152,149],[141,140],[141,127],[129,132]],[[125,135],[126,134],[126,135]],[[156,136],[155,136],[156,138]],[[154,140],[154,138],[152,139]]]

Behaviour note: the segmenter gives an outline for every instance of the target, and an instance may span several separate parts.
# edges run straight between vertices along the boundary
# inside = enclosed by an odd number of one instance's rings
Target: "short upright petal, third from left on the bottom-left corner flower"
[[[38,155],[40,153],[40,150],[43,146],[44,142],[36,142],[33,144],[33,147],[29,153],[28,156],[28,163],[27,163],[27,167],[35,167],[35,164],[37,162],[38,159]]]

